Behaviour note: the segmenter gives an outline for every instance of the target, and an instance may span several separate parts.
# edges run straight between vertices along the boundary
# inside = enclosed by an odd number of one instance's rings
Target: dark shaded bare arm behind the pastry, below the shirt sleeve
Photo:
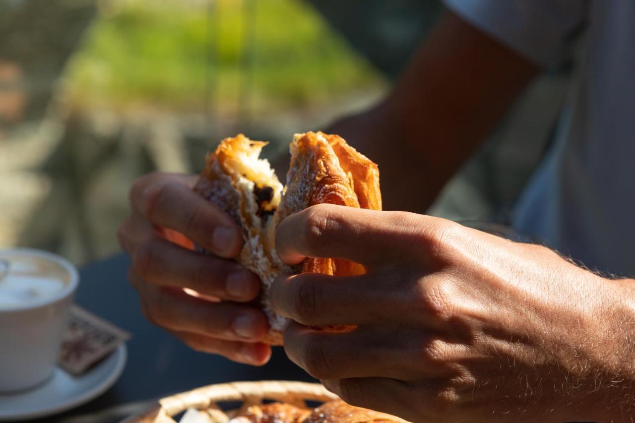
[[[537,71],[448,13],[384,102],[329,131],[379,164],[386,210],[422,212]]]

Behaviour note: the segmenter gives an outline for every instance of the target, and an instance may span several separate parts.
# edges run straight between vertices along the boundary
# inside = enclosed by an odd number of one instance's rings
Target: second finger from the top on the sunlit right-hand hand
[[[303,325],[363,325],[410,316],[416,278],[396,272],[360,276],[282,274],[269,290],[278,314]]]

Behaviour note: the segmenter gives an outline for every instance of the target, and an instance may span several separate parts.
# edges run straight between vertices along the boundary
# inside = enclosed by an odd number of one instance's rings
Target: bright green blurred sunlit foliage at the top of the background
[[[70,63],[72,105],[274,111],[382,81],[302,0],[111,0]],[[206,96],[209,96],[206,100]]]

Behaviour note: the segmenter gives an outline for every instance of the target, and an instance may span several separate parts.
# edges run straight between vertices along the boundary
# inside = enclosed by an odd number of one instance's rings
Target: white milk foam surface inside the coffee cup
[[[69,283],[68,272],[52,260],[28,255],[0,258],[9,262],[6,276],[0,279],[0,309],[53,297]]]

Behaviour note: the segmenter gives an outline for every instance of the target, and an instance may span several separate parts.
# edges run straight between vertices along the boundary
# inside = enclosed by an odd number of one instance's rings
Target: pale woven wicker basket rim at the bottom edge
[[[231,417],[242,413],[249,406],[262,404],[263,400],[274,400],[306,407],[305,401],[325,402],[337,399],[337,395],[330,393],[320,384],[283,380],[232,382],[204,386],[168,396],[159,400],[156,406],[142,415],[130,417],[122,423],[175,423],[172,416],[184,412],[188,408],[204,410],[210,414],[213,420],[226,422]],[[242,405],[236,410],[223,411],[219,403],[224,401],[240,401]]]

